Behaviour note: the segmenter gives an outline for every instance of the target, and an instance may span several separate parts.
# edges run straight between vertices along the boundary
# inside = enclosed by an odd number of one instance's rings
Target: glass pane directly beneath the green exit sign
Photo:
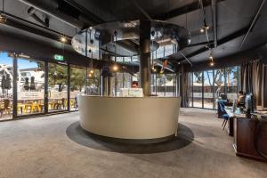
[[[48,64],[48,111],[68,109],[68,66]]]

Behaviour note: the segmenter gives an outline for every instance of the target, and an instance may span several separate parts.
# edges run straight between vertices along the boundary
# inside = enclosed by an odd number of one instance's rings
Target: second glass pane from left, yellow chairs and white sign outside
[[[18,116],[44,113],[44,62],[18,59]]]

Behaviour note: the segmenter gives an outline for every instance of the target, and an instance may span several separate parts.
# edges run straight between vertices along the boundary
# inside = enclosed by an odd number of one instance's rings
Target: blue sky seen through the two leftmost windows
[[[0,53],[0,64],[12,65],[12,58],[7,56],[7,53]],[[37,64],[34,61],[18,59],[19,69],[36,68]]]

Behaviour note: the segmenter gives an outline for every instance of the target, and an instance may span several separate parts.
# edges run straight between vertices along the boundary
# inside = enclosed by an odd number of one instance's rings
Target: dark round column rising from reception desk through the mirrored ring
[[[151,95],[150,88],[150,20],[140,20],[140,75],[144,96]]]

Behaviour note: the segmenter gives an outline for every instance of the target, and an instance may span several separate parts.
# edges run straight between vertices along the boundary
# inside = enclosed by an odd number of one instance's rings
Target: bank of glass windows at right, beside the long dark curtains
[[[190,93],[190,101],[193,101],[193,103],[189,106],[202,108],[203,100],[203,108],[216,109],[216,100],[222,93],[226,93],[229,100],[237,99],[240,83],[239,68],[239,66],[235,66],[226,69],[190,73],[193,82],[193,91]],[[204,79],[203,86],[202,78]]]

